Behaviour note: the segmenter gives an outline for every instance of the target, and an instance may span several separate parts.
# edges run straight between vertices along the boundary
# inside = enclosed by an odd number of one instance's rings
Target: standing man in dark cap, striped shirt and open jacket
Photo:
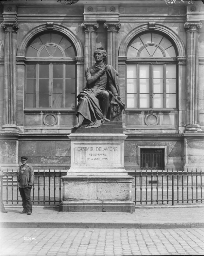
[[[31,188],[34,183],[34,170],[31,165],[28,165],[28,157],[22,156],[19,176],[18,176],[18,186],[20,191],[20,196],[22,197],[23,211],[20,213],[32,213],[32,202],[31,202]]]

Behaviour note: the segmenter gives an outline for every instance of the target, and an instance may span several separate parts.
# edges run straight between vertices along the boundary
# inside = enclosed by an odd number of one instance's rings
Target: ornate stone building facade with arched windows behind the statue
[[[77,95],[104,46],[126,105],[125,169],[204,167],[203,20],[202,1],[1,1],[1,165],[70,168]]]

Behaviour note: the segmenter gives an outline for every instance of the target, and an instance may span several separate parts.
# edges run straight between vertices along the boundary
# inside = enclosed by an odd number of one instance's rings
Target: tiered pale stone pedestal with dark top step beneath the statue
[[[112,125],[73,129],[69,135],[71,168],[62,177],[60,211],[134,211],[133,177],[124,169],[127,136],[122,133],[122,124],[109,123]]]

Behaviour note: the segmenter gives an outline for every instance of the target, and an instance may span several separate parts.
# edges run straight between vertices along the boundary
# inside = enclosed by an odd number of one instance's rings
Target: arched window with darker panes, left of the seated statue
[[[58,33],[45,33],[26,49],[25,108],[75,108],[75,49]]]

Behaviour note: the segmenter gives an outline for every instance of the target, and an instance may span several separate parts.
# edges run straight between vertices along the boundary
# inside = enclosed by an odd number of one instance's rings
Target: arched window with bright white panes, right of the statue
[[[126,55],[127,108],[177,108],[177,53],[171,41],[155,32],[141,34]]]

